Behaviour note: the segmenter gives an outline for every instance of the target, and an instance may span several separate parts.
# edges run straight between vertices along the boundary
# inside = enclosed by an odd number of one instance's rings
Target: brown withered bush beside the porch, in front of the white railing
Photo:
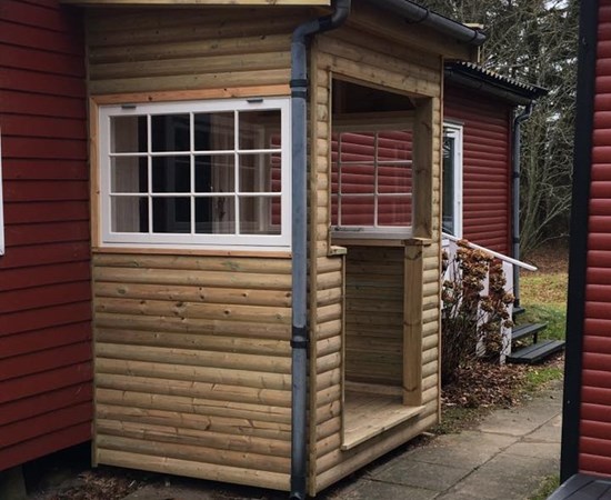
[[[459,367],[475,356],[498,360],[503,350],[502,328],[511,327],[502,263],[491,254],[458,243],[452,259],[443,253],[441,381],[454,381]],[[488,277],[488,293],[485,278]]]

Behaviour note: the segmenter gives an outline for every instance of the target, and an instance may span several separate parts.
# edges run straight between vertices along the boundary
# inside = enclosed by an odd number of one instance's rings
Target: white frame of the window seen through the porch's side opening
[[[337,132],[338,134],[341,134],[343,132],[362,132],[362,133],[378,133],[384,132],[384,131],[394,131],[394,130],[411,130],[412,124],[411,123],[394,123],[392,126],[384,126],[384,124],[367,124],[367,126],[335,126],[333,129],[333,132]],[[341,146],[340,146],[341,148]],[[375,150],[378,149],[378,139],[375,139]],[[338,151],[339,153],[339,151]],[[392,163],[392,164],[409,164],[410,168],[413,167],[412,160],[397,160],[397,161],[388,161],[388,162],[381,162],[382,166],[384,163]],[[385,194],[378,192],[378,167],[381,166],[381,163],[375,158],[372,160],[372,164],[374,167],[374,187],[373,191],[371,193],[367,193],[363,196],[372,196],[374,198],[374,213],[373,213],[373,226],[348,226],[341,223],[341,161],[338,159],[338,223],[337,226],[331,226],[331,233],[333,237],[338,238],[345,238],[345,239],[395,239],[395,238],[411,238],[413,234],[413,224],[410,226],[379,226],[378,224],[378,201],[380,198],[384,198]],[[350,194],[354,196],[354,194]],[[412,179],[412,192],[410,192],[409,198],[412,200],[412,220],[413,220],[413,179]]]

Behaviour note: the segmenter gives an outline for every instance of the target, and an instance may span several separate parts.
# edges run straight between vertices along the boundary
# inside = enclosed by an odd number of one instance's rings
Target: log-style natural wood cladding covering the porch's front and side
[[[410,31],[354,4],[349,23],[317,37],[310,50],[310,494],[439,418],[442,62],[443,54],[470,53],[425,28]],[[291,32],[319,13],[92,9],[87,24],[92,102],[243,97],[249,88],[286,94]],[[418,240],[332,244],[334,79],[413,100]],[[94,248],[98,463],[289,488],[291,263],[289,253]],[[370,329],[355,328],[363,323],[359,276],[380,283],[369,303],[375,311],[367,313]],[[362,379],[363,372],[375,380]],[[409,414],[344,446],[350,382],[393,386],[389,394],[399,403],[402,398]]]

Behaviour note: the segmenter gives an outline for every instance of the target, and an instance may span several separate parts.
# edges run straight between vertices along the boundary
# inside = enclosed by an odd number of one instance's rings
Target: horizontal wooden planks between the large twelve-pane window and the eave
[[[297,12],[250,8],[91,13],[91,93],[288,83],[290,36],[301,20]]]

